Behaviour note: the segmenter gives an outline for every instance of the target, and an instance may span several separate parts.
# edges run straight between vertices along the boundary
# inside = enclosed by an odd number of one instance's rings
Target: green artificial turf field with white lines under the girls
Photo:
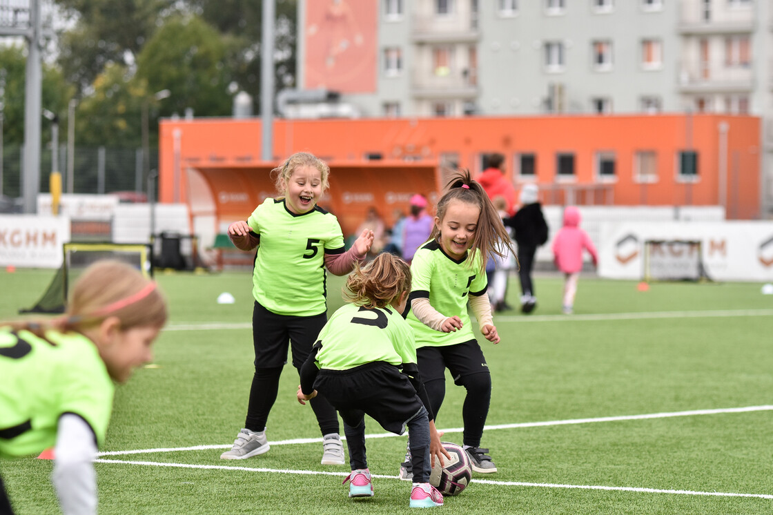
[[[0,319],[43,293],[53,271],[0,271]],[[153,367],[118,387],[97,463],[100,513],[404,513],[405,438],[368,440],[376,496],[348,498],[348,466],[321,466],[321,436],[295,401],[288,365],[267,424],[271,451],[220,460],[243,425],[252,377],[249,271],[157,275],[171,319]],[[331,309],[341,278],[329,280]],[[474,475],[442,513],[773,512],[773,295],[760,284],[581,278],[574,315],[562,282],[538,276],[532,315],[495,315],[479,339],[493,393],[483,447],[499,472]],[[519,292],[510,279],[509,302]],[[221,292],[236,298],[219,305]],[[437,425],[461,443],[464,391],[448,380]],[[744,409],[745,408],[745,409]],[[368,420],[369,435],[385,435]],[[59,513],[52,462],[0,462],[18,513]]]

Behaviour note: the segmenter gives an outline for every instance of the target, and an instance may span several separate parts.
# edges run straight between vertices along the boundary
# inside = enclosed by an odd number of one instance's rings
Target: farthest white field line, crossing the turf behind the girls
[[[629,313],[597,313],[589,315],[495,315],[501,322],[604,322],[614,320],[648,319],[710,319],[736,316],[773,316],[773,309],[713,309],[707,311],[649,311]],[[249,322],[203,324],[170,324],[165,331],[220,331],[223,329],[252,329]]]

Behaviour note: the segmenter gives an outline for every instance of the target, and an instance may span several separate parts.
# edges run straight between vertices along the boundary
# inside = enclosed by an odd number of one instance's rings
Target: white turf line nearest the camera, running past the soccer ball
[[[117,463],[122,465],[141,465],[156,467],[172,467],[177,469],[206,469],[206,470],[243,470],[245,472],[275,472],[279,474],[300,474],[303,476],[347,476],[348,472],[325,472],[317,470],[293,470],[293,469],[266,469],[258,467],[237,467],[226,465],[191,465],[188,463],[164,463],[164,462],[135,462],[123,459],[95,459],[95,463]],[[372,474],[372,477],[382,479],[400,479],[397,476],[384,476]],[[608,490],[617,492],[635,493],[673,493],[690,496],[720,496],[720,497],[755,497],[758,499],[773,499],[773,495],[767,493],[729,493],[729,492],[699,492],[693,490],[672,490],[656,488],[638,488],[635,486],[601,486],[601,485],[561,485],[554,483],[523,483],[521,481],[492,481],[490,479],[472,479],[472,483],[498,486],[538,486],[542,488],[567,488],[586,490]]]

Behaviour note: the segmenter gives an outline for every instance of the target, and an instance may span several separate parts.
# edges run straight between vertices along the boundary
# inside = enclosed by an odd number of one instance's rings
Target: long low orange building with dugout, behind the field
[[[759,118],[721,114],[277,119],[264,162],[258,118],[162,120],[159,200],[189,203],[222,230],[275,194],[272,168],[308,151],[329,162],[322,204],[351,234],[370,206],[391,223],[412,194],[435,200],[449,166],[477,173],[501,152],[516,189],[536,182],[545,204],[719,205],[754,219],[760,130]]]

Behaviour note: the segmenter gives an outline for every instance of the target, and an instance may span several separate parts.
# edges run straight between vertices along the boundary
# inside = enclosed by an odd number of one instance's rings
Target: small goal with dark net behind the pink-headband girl
[[[114,259],[131,264],[145,277],[153,276],[153,251],[149,244],[66,243],[63,261],[46,292],[32,308],[19,313],[62,313],[69,288],[90,264],[100,259]]]

